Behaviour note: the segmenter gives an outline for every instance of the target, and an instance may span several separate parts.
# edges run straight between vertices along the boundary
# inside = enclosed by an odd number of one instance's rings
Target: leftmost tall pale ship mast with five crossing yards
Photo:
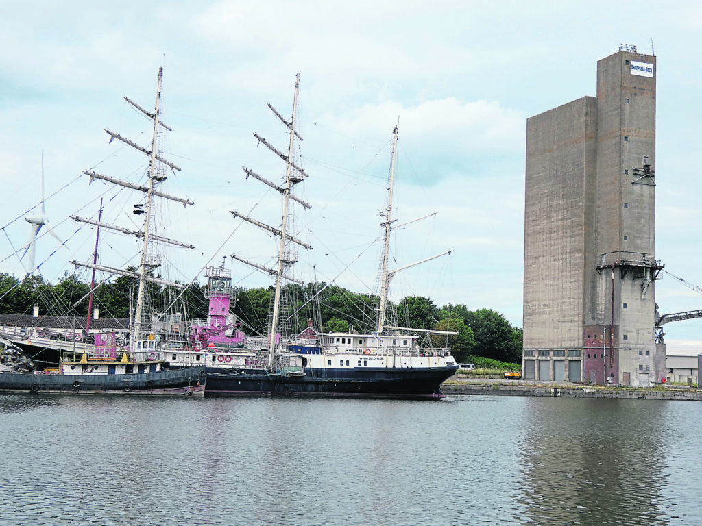
[[[90,176],[90,182],[93,182],[93,180],[103,180],[106,182],[110,182],[112,184],[117,184],[121,187],[126,187],[126,188],[131,188],[137,191],[143,192],[145,194],[145,205],[138,204],[135,205],[133,213],[135,215],[142,215],[145,214],[144,217],[144,224],[143,228],[140,231],[132,231],[128,230],[122,227],[118,227],[113,224],[107,224],[103,223],[102,221],[93,221],[89,219],[85,219],[83,217],[78,217],[78,216],[72,216],[72,219],[75,221],[79,222],[84,222],[88,224],[93,224],[96,227],[100,228],[107,228],[107,229],[112,229],[119,231],[123,234],[128,234],[131,236],[136,236],[138,238],[143,238],[143,243],[142,243],[142,253],[141,253],[141,259],[140,259],[140,264],[139,264],[139,269],[137,272],[132,272],[132,271],[126,271],[122,269],[114,269],[112,267],[105,267],[102,265],[98,264],[84,264],[80,263],[77,261],[72,261],[74,265],[77,265],[79,267],[86,267],[89,269],[94,269],[94,270],[100,270],[100,271],[105,271],[110,274],[117,274],[118,276],[128,276],[131,278],[138,278],[139,280],[139,288],[138,288],[138,293],[137,293],[137,304],[136,304],[136,309],[134,313],[134,320],[133,320],[133,326],[131,330],[131,348],[135,349],[135,341],[137,339],[141,338],[142,332],[144,332],[143,328],[143,316],[144,316],[144,304],[145,304],[145,295],[146,295],[146,288],[147,288],[147,283],[157,283],[159,285],[166,285],[166,286],[171,286],[171,287],[176,287],[176,288],[185,288],[185,285],[182,285],[180,283],[171,283],[169,281],[166,281],[161,278],[154,278],[149,275],[149,272],[152,269],[155,269],[160,266],[160,257],[159,255],[151,255],[150,254],[150,243],[166,243],[170,245],[176,245],[184,248],[194,248],[193,245],[187,244],[187,243],[182,243],[180,241],[170,239],[170,238],[165,238],[163,236],[156,236],[150,232],[152,226],[152,204],[154,201],[154,197],[161,197],[161,198],[166,198],[170,201],[176,201],[178,203],[183,203],[183,205],[193,205],[194,203],[190,201],[190,199],[185,199],[185,198],[180,198],[177,196],[171,196],[169,194],[165,194],[164,192],[157,191],[157,185],[164,180],[166,180],[166,175],[165,175],[165,166],[168,166],[168,168],[171,168],[171,170],[180,170],[178,166],[175,164],[171,163],[170,161],[166,161],[163,157],[159,155],[159,131],[160,127],[164,127],[167,130],[171,130],[166,124],[164,124],[161,121],[161,79],[164,74],[164,69],[163,67],[159,68],[159,77],[158,77],[158,83],[157,83],[157,93],[156,93],[156,104],[155,104],[155,109],[154,113],[149,113],[142,107],[140,107],[138,104],[135,102],[131,101],[128,99],[128,97],[124,97],[124,100],[126,100],[129,104],[131,104],[133,107],[138,109],[140,112],[142,112],[145,116],[147,116],[149,119],[153,121],[153,131],[152,131],[152,142],[151,142],[151,147],[150,148],[145,148],[141,147],[139,144],[135,144],[135,142],[132,142],[131,140],[126,139],[125,137],[122,137],[119,135],[119,133],[114,133],[110,130],[105,130],[108,135],[110,135],[110,142],[113,140],[117,139],[120,142],[124,142],[124,144],[127,144],[128,146],[137,149],[138,151],[141,151],[143,154],[146,154],[149,157],[149,169],[147,172],[147,176],[149,178],[149,182],[146,185],[141,185],[141,184],[134,184],[132,182],[128,181],[122,181],[115,179],[114,177],[108,177],[107,175],[102,175],[100,173],[96,173],[93,170],[84,170],[84,173],[86,175]]]

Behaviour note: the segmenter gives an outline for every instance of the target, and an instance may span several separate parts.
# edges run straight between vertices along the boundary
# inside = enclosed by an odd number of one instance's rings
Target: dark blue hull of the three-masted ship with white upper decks
[[[305,375],[267,375],[207,369],[205,396],[323,396],[339,398],[444,398],[441,384],[457,367],[305,370]]]

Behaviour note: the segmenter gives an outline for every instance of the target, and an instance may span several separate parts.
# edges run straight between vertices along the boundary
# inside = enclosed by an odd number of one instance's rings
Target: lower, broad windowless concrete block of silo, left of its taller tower
[[[526,349],[582,346],[586,194],[593,188],[596,125],[593,97],[527,121]]]

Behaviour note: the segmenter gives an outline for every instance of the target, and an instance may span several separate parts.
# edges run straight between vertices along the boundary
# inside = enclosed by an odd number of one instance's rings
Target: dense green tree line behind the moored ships
[[[180,311],[187,319],[206,318],[208,300],[205,288],[193,283],[184,292],[170,292],[159,285],[149,285],[152,307],[157,311]],[[128,318],[130,298],[137,285],[133,278],[121,276],[99,283],[94,291],[94,306],[100,317]],[[286,286],[282,320],[293,333],[307,327],[308,320],[322,325],[326,332],[373,332],[378,323],[380,300],[377,296],[350,292],[337,285],[310,283]],[[88,316],[90,285],[74,274],[65,274],[52,285],[41,276],[18,280],[0,274],[0,313],[29,314],[39,305],[42,315]],[[244,332],[265,334],[273,288],[234,288],[230,311],[237,316]],[[414,328],[430,333],[434,346],[450,346],[453,356],[462,362],[469,356],[483,356],[508,363],[522,359],[522,329],[514,328],[507,318],[492,309],[470,311],[463,304],[438,307],[428,297],[410,296],[390,304],[386,325]]]

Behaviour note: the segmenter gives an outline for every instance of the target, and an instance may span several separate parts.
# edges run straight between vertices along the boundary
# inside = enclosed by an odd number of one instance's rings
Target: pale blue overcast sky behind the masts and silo
[[[101,183],[88,187],[81,172],[143,175],[143,159],[117,142],[108,144],[103,130],[149,143],[148,122],[123,97],[152,109],[161,66],[164,121],[173,128],[166,156],[183,168],[169,177],[168,191],[196,203],[176,208],[179,238],[197,250],[178,256],[182,274],[173,277],[200,276],[202,282],[201,269],[223,255],[269,254],[270,243],[258,243],[229,210],[270,213],[255,204],[266,193],[263,185],[246,180],[241,167],[273,180],[282,175],[281,163],[256,147],[252,133],[286,147],[286,130],[266,104],[289,116],[299,73],[303,162],[310,174],[305,196],[313,207],[303,230],[314,245],[317,280],[334,280],[355,292],[373,288],[379,248],[372,242],[380,232],[377,213],[392,128],[399,121],[396,217],[404,222],[437,215],[400,233],[393,264],[454,252],[399,273],[395,299],[414,293],[438,306],[488,307],[521,327],[527,118],[595,95],[597,60],[624,43],[658,58],[656,257],[692,285],[662,274],[656,301],[661,313],[702,308],[702,289],[694,290],[702,286],[702,182],[696,162],[702,79],[689,58],[696,56],[702,4],[590,1],[586,9],[575,1],[465,0],[5,4],[0,7],[3,271],[23,274],[11,254],[29,238],[22,218],[39,202],[42,154],[47,215],[68,247],[43,265],[48,281],[72,271],[69,259],[88,259],[93,250],[94,232],[80,229],[69,215],[95,215],[102,196],[111,200],[105,220],[126,218],[117,201],[129,205],[138,198],[115,197]],[[122,264],[133,256],[109,236],[105,243]],[[102,246],[101,261],[120,264],[105,259],[110,247]],[[56,248],[54,238],[40,238],[37,262]],[[232,272],[240,285],[270,283],[240,265]],[[665,329],[669,352],[702,349],[702,319]]]

